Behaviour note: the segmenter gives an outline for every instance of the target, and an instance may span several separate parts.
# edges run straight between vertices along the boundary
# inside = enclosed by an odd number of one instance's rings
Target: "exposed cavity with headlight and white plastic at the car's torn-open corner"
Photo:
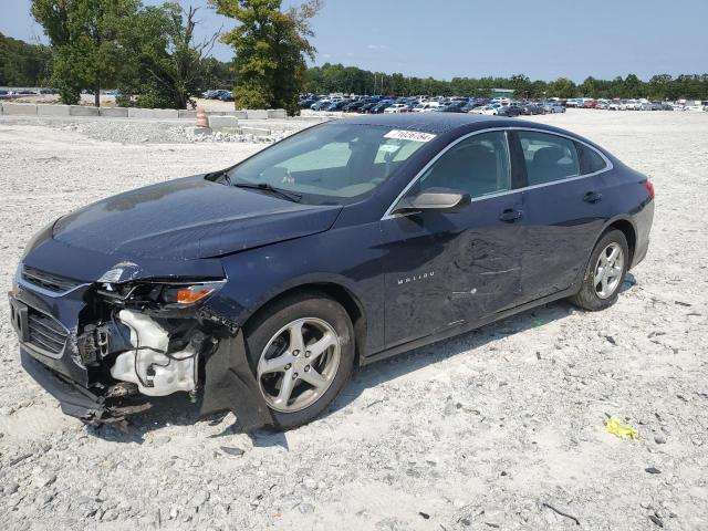
[[[119,385],[124,394],[196,392],[200,356],[214,350],[220,335],[199,313],[199,302],[219,287],[220,282],[98,284],[91,312],[98,319],[76,337],[81,363],[98,382],[132,384]]]

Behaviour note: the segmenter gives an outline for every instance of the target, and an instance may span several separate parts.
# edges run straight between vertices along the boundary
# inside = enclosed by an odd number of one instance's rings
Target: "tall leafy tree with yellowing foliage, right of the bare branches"
[[[320,0],[281,10],[281,0],[210,0],[216,10],[240,25],[222,41],[236,51],[237,107],[283,107],[296,114],[298,95],[305,85],[305,59],[314,59],[309,39]]]

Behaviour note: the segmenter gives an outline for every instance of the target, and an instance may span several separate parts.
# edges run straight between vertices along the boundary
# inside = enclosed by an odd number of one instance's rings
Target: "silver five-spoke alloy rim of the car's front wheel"
[[[298,319],[280,329],[263,348],[257,367],[268,405],[294,413],[317,402],[336,376],[341,351],[334,327],[321,319]]]

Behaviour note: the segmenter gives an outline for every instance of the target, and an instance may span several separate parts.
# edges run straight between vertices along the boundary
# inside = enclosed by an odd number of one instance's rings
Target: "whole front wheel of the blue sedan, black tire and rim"
[[[301,331],[301,342],[293,341],[291,330]],[[296,428],[315,419],[344,388],[354,367],[352,321],[344,308],[324,293],[300,293],[275,301],[247,324],[244,339],[249,364],[277,429]],[[332,343],[321,354],[316,353],[321,347],[314,347],[320,340],[321,345]],[[290,394],[283,392],[285,381],[291,383]]]

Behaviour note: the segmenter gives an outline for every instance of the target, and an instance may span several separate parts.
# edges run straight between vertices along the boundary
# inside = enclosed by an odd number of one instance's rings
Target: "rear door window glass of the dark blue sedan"
[[[570,138],[532,131],[519,131],[529,186],[577,177],[580,157]]]

